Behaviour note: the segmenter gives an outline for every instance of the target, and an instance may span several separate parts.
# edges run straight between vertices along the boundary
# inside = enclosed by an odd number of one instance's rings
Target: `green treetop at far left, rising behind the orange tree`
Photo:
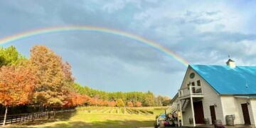
[[[18,65],[26,58],[18,53],[14,46],[8,48],[0,47],[0,68],[3,65]]]

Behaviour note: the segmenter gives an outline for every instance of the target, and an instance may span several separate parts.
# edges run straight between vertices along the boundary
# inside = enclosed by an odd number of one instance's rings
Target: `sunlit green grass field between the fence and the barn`
[[[75,112],[56,114],[51,119],[37,119],[8,127],[154,127],[158,107],[79,107]]]

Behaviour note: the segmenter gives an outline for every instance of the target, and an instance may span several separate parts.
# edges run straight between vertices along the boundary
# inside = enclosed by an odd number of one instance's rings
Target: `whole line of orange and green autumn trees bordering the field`
[[[169,104],[153,92],[105,92],[75,82],[71,65],[46,46],[33,46],[26,58],[14,46],[0,48],[0,105],[38,110],[90,106],[142,107]]]

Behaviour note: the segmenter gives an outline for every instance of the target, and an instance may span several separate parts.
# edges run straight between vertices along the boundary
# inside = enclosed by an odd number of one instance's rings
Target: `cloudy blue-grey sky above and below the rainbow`
[[[189,64],[256,65],[256,1],[0,0],[0,38],[38,28],[97,26],[142,36]],[[6,43],[29,58],[44,45],[73,67],[76,82],[97,90],[174,97],[186,73],[176,59],[109,33],[68,31]]]

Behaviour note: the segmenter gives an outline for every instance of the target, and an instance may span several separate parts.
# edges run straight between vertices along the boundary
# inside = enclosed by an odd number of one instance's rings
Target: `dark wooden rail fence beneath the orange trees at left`
[[[59,111],[49,111],[49,112],[35,112],[29,114],[17,114],[17,115],[7,115],[6,117],[6,124],[14,124],[14,123],[21,123],[25,121],[33,121],[34,119],[46,117],[48,114],[53,115],[55,113],[60,112],[71,112],[75,110],[59,110]],[[0,117],[0,125],[4,122],[4,117]]]

